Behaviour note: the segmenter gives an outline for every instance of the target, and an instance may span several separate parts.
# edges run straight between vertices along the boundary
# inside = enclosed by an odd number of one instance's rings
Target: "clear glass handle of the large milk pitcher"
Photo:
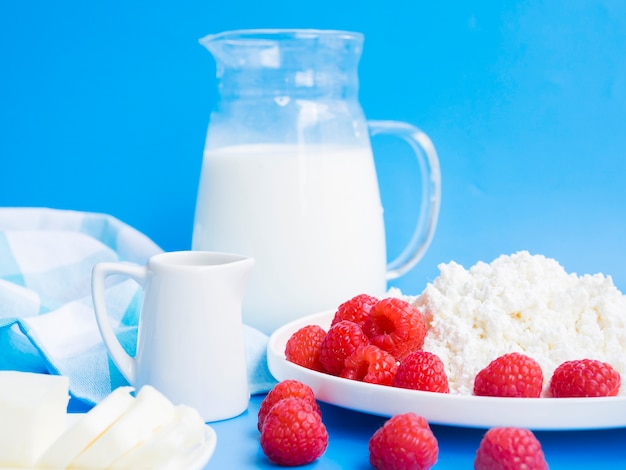
[[[387,264],[387,279],[396,279],[409,271],[424,256],[435,234],[441,205],[439,158],[430,138],[417,127],[400,121],[368,121],[370,134],[396,135],[407,142],[417,157],[422,176],[420,214],[411,240],[404,250]]]

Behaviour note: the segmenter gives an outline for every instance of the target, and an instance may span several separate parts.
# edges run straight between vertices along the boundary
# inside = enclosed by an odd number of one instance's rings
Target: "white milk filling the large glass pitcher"
[[[194,250],[255,258],[244,321],[271,333],[386,288],[383,210],[369,148],[246,145],[205,152]],[[299,150],[301,153],[299,153]]]

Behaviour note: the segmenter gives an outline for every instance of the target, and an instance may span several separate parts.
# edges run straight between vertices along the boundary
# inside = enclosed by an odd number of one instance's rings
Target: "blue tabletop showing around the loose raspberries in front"
[[[217,448],[207,465],[214,468],[277,468],[263,454],[256,428],[264,395],[255,395],[242,415],[210,426],[217,433]],[[386,420],[320,403],[328,429],[328,449],[304,468],[362,469],[369,465],[368,440]],[[439,443],[437,469],[471,469],[484,429],[431,426]],[[535,431],[551,470],[626,468],[626,428],[589,431]]]

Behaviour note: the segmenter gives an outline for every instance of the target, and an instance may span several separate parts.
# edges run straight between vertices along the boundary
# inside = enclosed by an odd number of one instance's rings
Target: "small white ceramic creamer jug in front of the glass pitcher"
[[[122,375],[139,390],[151,385],[205,421],[243,413],[250,400],[241,301],[254,260],[230,254],[178,251],[146,265],[97,263],[94,311],[104,344]],[[107,314],[105,280],[123,275],[141,287],[137,350],[122,347]]]

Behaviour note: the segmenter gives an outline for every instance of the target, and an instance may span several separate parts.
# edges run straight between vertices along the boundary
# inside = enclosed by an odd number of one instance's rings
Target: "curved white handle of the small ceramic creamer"
[[[105,262],[97,263],[93,267],[91,274],[91,296],[93,298],[93,307],[98,329],[100,330],[104,345],[108,349],[113,362],[131,385],[135,383],[136,363],[135,359],[122,347],[109,321],[104,295],[105,280],[111,275],[121,274],[130,277],[140,286],[143,286],[147,272],[147,267],[145,266],[130,263]]]

